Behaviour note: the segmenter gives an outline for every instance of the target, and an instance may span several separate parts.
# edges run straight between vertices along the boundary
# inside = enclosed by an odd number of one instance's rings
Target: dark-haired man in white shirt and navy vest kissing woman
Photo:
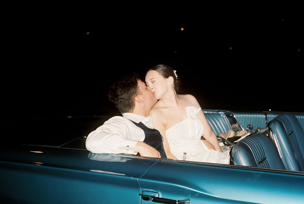
[[[136,74],[125,76],[111,87],[108,98],[123,117],[114,116],[90,133],[86,148],[93,153],[166,158],[163,138],[148,116],[157,99],[146,84]]]

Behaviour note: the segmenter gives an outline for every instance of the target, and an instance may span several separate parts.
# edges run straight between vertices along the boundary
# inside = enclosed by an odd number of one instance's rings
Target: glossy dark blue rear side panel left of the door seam
[[[35,146],[2,153],[0,195],[22,203],[140,203],[138,178],[157,160],[90,157],[85,150]]]

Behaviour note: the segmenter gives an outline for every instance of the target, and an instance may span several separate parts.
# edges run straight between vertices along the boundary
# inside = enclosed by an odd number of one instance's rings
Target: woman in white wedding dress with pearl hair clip
[[[179,95],[178,76],[170,66],[159,64],[146,74],[146,85],[159,99],[151,109],[153,126],[164,137],[168,158],[187,161],[228,164],[215,133],[192,95]],[[206,140],[203,142],[201,137]],[[208,147],[207,147],[208,146]]]

